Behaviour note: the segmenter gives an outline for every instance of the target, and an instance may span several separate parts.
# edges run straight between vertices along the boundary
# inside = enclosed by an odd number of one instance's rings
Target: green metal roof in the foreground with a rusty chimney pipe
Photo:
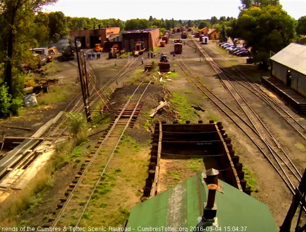
[[[165,231],[162,230],[164,227],[178,228],[177,231],[191,231],[197,226],[203,215],[203,205],[210,198],[207,197],[209,185],[205,184],[203,176],[204,174],[199,172],[176,187],[134,206],[127,229]],[[220,182],[222,183],[223,193],[215,192],[216,217],[213,225],[221,227],[221,231],[243,231],[241,228],[245,227],[244,231],[248,232],[277,232],[265,204],[221,180],[218,181],[219,188]],[[231,229],[225,230],[225,227]]]

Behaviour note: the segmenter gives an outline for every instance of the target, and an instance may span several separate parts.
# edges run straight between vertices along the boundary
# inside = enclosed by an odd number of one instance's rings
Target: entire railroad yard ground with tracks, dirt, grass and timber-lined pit
[[[202,44],[191,33],[182,39],[182,53],[173,55],[174,39],[180,33],[170,34],[155,58],[144,52],[86,59],[91,122],[76,147],[62,111],[84,111],[77,62],[54,61],[49,78],[62,81],[66,99],[0,121],[5,137],[35,141],[27,151],[33,155],[1,176],[1,225],[123,227],[135,205],[210,168],[267,204],[282,225],[305,170],[305,116],[263,86],[260,77],[270,72],[246,57],[229,55],[217,41]],[[158,71],[161,54],[169,73]],[[212,132],[218,136],[196,134]],[[17,212],[22,204],[27,209]]]

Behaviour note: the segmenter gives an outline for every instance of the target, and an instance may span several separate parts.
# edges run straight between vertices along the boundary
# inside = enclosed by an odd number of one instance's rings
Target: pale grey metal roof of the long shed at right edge
[[[286,48],[270,57],[270,60],[306,75],[306,46],[290,43]]]

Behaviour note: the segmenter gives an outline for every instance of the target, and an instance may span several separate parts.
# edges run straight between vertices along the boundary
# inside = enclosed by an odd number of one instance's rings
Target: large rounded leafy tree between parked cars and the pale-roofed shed
[[[236,25],[254,61],[264,69],[268,68],[269,51],[280,51],[294,37],[294,21],[281,6],[250,7],[240,13]]]

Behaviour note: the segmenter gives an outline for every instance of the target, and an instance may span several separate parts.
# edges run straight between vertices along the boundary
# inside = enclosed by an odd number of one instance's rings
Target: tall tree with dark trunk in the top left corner
[[[20,35],[19,31],[22,30],[20,25],[27,25],[26,22],[29,17],[34,15],[34,12],[40,11],[41,7],[57,0],[1,0],[1,15],[4,17],[5,32],[2,36],[5,36],[4,49],[7,57],[5,60],[5,78],[4,82],[8,86],[8,93],[13,94],[13,76],[12,69],[14,58],[14,47],[16,41],[18,41]]]

